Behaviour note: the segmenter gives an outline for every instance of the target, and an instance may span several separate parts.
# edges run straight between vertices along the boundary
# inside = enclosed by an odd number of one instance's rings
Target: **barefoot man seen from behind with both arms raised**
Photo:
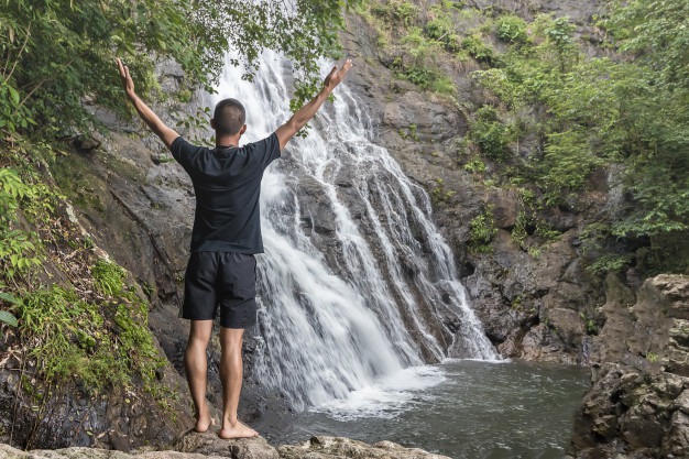
[[[206,348],[212,320],[220,309],[220,379],[222,382],[221,438],[247,438],[259,434],[237,418],[242,385],[242,337],[256,320],[255,253],[263,253],[259,196],[269,164],[322,106],[349,72],[347,59],[324,80],[321,91],[277,130],[259,142],[239,146],[247,131],[245,112],[234,99],[216,106],[211,128],[216,147],[195,146],[168,128],[136,96],[129,68],[118,58],[124,90],[141,119],[165,143],[192,177],[196,212],[192,254],[185,275],[182,317],[190,319],[184,354],[187,382],[196,408],[196,431],[214,424],[206,403]]]

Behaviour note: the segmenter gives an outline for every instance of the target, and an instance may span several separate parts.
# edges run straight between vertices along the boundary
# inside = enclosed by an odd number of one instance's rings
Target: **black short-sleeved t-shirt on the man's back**
[[[263,253],[261,178],[280,157],[277,135],[212,150],[178,136],[169,149],[196,193],[192,252]]]

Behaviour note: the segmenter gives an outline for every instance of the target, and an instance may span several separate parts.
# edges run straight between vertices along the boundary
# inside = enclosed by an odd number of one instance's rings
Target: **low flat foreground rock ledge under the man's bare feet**
[[[313,437],[300,445],[281,446],[275,449],[264,438],[222,440],[215,434],[190,433],[175,445],[173,450],[138,451],[125,453],[95,448],[65,448],[57,450],[21,451],[9,445],[0,445],[2,459],[328,459],[328,458],[380,458],[380,459],[449,459],[416,448],[404,448],[392,441],[367,445],[362,441],[339,437]]]

